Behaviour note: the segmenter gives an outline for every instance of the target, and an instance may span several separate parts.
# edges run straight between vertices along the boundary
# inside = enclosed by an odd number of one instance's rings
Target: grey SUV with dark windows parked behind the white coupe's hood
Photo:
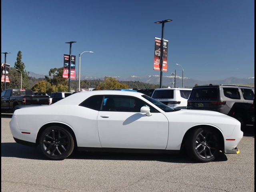
[[[236,85],[197,86],[188,99],[188,109],[212,110],[254,124],[254,87]],[[252,112],[253,111],[253,112]]]

